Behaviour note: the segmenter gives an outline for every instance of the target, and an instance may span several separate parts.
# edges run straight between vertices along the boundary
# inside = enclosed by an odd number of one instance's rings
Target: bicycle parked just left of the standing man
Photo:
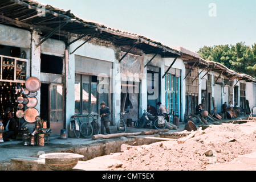
[[[87,117],[87,121],[82,122],[80,120],[80,118],[84,118]],[[92,119],[91,119],[92,118]],[[87,116],[84,115],[72,115],[71,117],[71,126],[72,126],[72,130],[76,136],[76,138],[80,138],[80,133],[88,138],[88,137],[92,137],[93,134],[93,127],[91,125],[91,121],[93,121],[93,115],[89,114]]]

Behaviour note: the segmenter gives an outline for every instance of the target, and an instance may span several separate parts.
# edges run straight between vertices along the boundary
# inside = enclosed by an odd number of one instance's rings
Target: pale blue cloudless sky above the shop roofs
[[[37,1],[169,47],[198,51],[204,46],[256,43],[256,0]]]

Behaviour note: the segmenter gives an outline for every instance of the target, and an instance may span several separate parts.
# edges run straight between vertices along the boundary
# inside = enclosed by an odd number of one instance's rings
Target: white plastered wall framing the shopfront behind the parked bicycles
[[[74,40],[75,38],[71,39]],[[69,53],[73,52],[77,47],[79,47],[84,40],[79,40],[70,45]],[[84,46],[80,47],[72,55],[69,54],[69,63],[68,63],[68,76],[67,76],[67,94],[66,94],[66,115],[67,115],[67,127],[70,125],[70,118],[75,113],[75,55],[91,57],[93,59],[109,61],[113,63],[112,73],[112,119],[113,121],[118,121],[120,118],[120,107],[121,107],[121,82],[120,82],[120,65],[118,60],[115,57],[115,49],[113,47],[97,46],[92,43],[86,43]],[[117,93],[117,94],[115,94]]]

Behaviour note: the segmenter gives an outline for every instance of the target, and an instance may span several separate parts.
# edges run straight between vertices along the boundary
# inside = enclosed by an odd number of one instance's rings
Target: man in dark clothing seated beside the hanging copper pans
[[[7,120],[3,122],[3,126],[5,127],[6,134],[3,136],[3,140],[6,142],[11,137],[15,136],[15,133],[17,132],[17,125],[16,121],[13,118],[13,114],[8,113],[7,114]]]

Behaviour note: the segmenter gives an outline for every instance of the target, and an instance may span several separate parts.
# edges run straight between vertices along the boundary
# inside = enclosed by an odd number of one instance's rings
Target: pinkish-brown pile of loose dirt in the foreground
[[[226,163],[239,155],[256,151],[256,123],[243,125],[212,125],[178,144],[177,141],[164,141],[148,146],[133,146],[113,159],[117,166],[109,170],[121,171],[194,171],[206,170],[209,164]],[[206,151],[210,155],[206,156]]]

